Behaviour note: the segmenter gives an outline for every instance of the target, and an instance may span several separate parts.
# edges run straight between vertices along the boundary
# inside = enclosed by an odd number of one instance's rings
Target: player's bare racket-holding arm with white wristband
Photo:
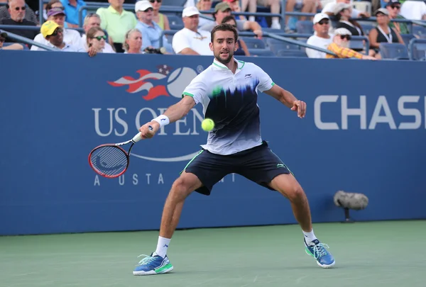
[[[151,122],[142,125],[139,128],[139,132],[142,133],[142,137],[151,138],[160,130],[162,123],[163,125],[167,125],[168,123],[174,123],[176,120],[180,120],[191,111],[191,108],[194,108],[195,101],[192,96],[184,96],[178,103],[175,103],[173,106],[170,106],[161,116],[155,118],[155,120],[151,120]],[[160,123],[158,123],[160,122]],[[153,128],[153,130],[149,129],[149,126]]]

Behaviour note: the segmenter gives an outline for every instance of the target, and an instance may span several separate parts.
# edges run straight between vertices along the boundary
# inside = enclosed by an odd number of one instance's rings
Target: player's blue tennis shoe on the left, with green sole
[[[141,254],[138,257],[141,256],[144,256],[145,258],[139,261],[138,265],[133,270],[133,275],[163,274],[173,270],[173,265],[170,264],[167,255],[163,258],[153,252],[151,256]]]

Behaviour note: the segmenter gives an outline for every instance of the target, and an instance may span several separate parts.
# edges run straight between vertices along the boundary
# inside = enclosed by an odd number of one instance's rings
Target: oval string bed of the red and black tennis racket
[[[92,152],[90,162],[102,174],[116,176],[126,169],[128,159],[126,153],[120,148],[105,146]]]

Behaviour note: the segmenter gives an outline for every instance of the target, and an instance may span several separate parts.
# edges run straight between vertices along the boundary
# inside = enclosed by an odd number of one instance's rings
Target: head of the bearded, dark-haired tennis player
[[[222,64],[231,62],[234,52],[238,49],[236,28],[226,23],[219,24],[213,28],[211,38],[210,50],[213,51],[214,57]]]

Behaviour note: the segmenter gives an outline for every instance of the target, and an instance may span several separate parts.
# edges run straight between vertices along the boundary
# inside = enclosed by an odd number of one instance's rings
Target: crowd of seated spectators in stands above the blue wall
[[[6,0],[0,0],[0,3],[2,1]],[[350,0],[288,0],[285,11],[312,13],[312,17],[286,16],[283,21],[278,16],[234,14],[241,11],[256,13],[259,9],[280,14],[283,9],[280,0],[241,0],[241,3],[239,0],[186,0],[182,5],[181,1],[175,0],[168,1],[168,7],[170,3],[180,9],[183,6],[181,13],[160,13],[162,1],[126,3],[125,9],[124,0],[108,0],[109,6],[99,6],[94,13],[84,9],[84,21],[80,25],[80,8],[87,5],[83,0],[52,0],[43,6],[43,11],[38,11],[38,1],[8,0],[6,5],[0,6],[0,49],[45,50],[9,37],[9,32],[64,52],[87,52],[91,57],[100,52],[212,55],[210,32],[219,23],[229,23],[239,31],[253,33],[238,40],[235,55],[246,56],[377,60],[381,59],[381,43],[408,47],[413,38],[426,39],[426,22],[422,22],[422,26],[420,22],[392,21],[425,21],[425,1],[362,1],[368,4],[368,9],[361,11],[355,8],[356,1]],[[133,7],[131,11],[129,4]],[[43,23],[39,21],[39,13],[43,13]],[[371,17],[376,21],[368,21]],[[283,27],[282,23],[285,24]],[[28,26],[38,27],[25,28]],[[168,30],[170,33],[164,33]],[[294,40],[332,53],[264,37],[266,31],[286,37],[293,33],[297,35]],[[309,35],[300,37],[300,34]],[[354,36],[366,38],[354,40]]]

